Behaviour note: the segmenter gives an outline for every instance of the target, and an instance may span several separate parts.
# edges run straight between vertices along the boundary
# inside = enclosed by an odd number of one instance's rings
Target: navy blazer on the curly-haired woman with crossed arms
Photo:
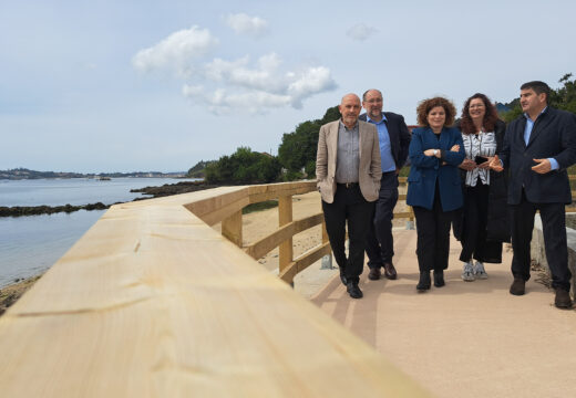
[[[460,145],[460,150],[451,151],[450,148],[456,144]],[[441,149],[442,159],[425,156],[426,149]],[[414,128],[408,155],[411,166],[408,176],[407,205],[432,210],[438,180],[442,210],[451,211],[461,208],[462,181],[457,166],[464,160],[465,155],[460,129],[444,127],[438,139],[430,127]]]

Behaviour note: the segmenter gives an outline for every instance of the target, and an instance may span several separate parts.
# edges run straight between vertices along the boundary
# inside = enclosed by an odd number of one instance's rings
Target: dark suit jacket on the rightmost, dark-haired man
[[[510,168],[508,203],[518,205],[522,187],[533,203],[570,203],[566,168],[576,163],[576,115],[548,106],[534,124],[528,145],[524,143],[526,118],[521,115],[506,128],[500,157]],[[539,175],[532,159],[554,158],[559,168]]]

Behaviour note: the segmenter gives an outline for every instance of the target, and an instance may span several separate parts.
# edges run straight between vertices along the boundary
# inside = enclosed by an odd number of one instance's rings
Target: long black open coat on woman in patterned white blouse
[[[496,154],[502,151],[505,133],[506,124],[502,121],[497,121],[496,125],[494,126],[494,134],[496,136]],[[464,189],[466,171],[461,169],[460,175],[462,178],[462,188]],[[510,242],[511,230],[508,208],[506,205],[507,185],[507,170],[501,172],[490,170],[488,219],[486,224],[486,239],[488,241]],[[464,207],[465,206],[466,203],[464,202]],[[462,240],[465,222],[466,220],[464,218],[464,211],[459,212],[459,214],[454,218],[454,223],[452,226],[454,235],[457,240]],[[502,256],[502,250],[500,256]]]

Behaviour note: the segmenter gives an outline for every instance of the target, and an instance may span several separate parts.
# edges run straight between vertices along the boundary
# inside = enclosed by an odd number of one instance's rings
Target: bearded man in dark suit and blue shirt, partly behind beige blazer
[[[392,218],[398,201],[398,174],[408,157],[410,133],[401,115],[382,112],[382,93],[380,91],[367,91],[362,95],[362,106],[366,113],[360,115],[359,119],[374,124],[378,128],[382,160],[380,192],[366,245],[370,268],[368,277],[372,281],[379,280],[380,269],[383,266],[384,276],[394,280],[397,271],[392,263],[394,255]]]

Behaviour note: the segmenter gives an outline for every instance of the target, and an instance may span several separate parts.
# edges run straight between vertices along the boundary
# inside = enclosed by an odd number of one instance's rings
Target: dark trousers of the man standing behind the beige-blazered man
[[[369,268],[381,268],[392,262],[394,255],[394,238],[392,237],[392,219],[398,202],[398,175],[395,171],[382,174],[380,193],[374,207],[373,222],[368,231],[366,253]]]

